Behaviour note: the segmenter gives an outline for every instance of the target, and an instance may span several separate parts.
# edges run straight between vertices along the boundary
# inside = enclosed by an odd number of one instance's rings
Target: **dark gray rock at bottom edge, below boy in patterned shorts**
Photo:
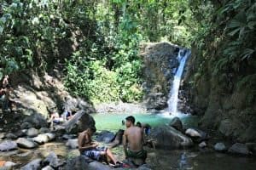
[[[78,156],[73,159],[67,160],[65,170],[88,170],[89,164],[86,162],[85,156]]]

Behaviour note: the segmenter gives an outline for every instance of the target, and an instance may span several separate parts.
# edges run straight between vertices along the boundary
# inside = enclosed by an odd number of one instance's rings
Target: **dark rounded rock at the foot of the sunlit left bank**
[[[36,128],[48,127],[48,122],[39,113],[33,113],[31,116],[27,116],[23,122],[29,122],[32,124],[32,127]]]

